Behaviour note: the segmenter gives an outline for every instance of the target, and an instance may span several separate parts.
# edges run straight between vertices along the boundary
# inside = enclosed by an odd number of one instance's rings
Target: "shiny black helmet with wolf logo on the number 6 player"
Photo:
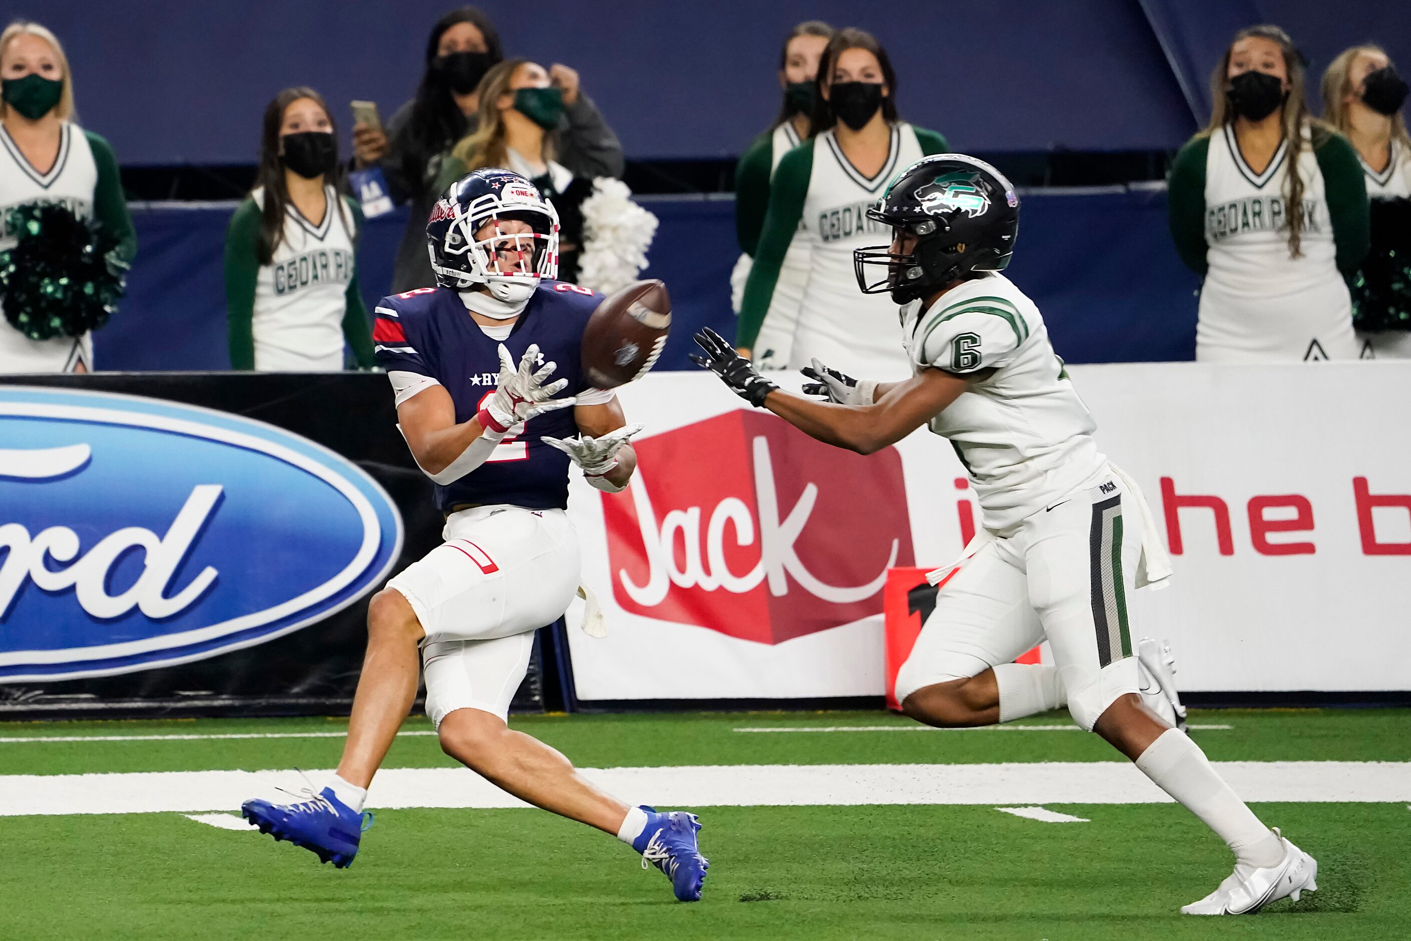
[[[868,219],[890,226],[893,236],[914,236],[916,247],[910,254],[892,245],[855,248],[858,286],[906,303],[972,271],[1003,271],[1019,236],[1019,196],[985,161],[937,154],[902,171]],[[869,267],[880,267],[880,277],[869,278]]]

